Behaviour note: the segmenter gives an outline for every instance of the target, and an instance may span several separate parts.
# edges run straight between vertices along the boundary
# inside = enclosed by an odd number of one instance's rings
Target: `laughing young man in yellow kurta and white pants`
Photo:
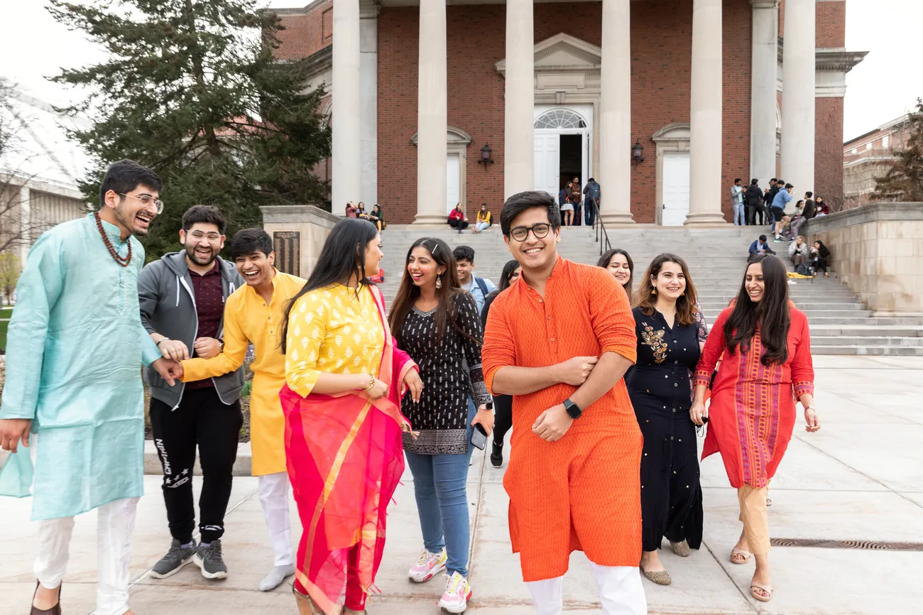
[[[246,286],[224,305],[224,347],[208,359],[183,361],[184,381],[221,376],[240,368],[248,344],[256,348],[250,392],[250,447],[253,476],[259,476],[259,503],[270,530],[275,554],[272,571],[259,588],[268,592],[294,574],[292,524],[289,521],[289,480],[285,467],[285,417],[279,392],[285,384],[281,338],[285,308],[305,280],[276,271],[270,235],[261,228],[238,232],[231,240],[231,259]]]

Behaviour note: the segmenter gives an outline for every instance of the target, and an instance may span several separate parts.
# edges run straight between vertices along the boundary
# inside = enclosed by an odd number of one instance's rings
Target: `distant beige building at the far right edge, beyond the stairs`
[[[876,179],[887,175],[893,151],[906,145],[909,117],[901,115],[843,144],[843,209],[871,202]]]

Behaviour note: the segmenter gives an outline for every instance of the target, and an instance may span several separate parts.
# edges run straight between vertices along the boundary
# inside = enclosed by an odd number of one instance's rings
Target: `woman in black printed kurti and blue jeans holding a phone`
[[[407,271],[390,312],[395,342],[420,368],[419,403],[402,404],[414,435],[404,435],[414,475],[424,549],[409,576],[423,583],[446,571],[439,607],[461,613],[468,584],[468,463],[471,433],[479,423],[490,435],[493,412],[481,372],[484,332],[472,295],[462,290],[451,248],[418,239],[407,253]],[[469,404],[473,396],[474,404]]]

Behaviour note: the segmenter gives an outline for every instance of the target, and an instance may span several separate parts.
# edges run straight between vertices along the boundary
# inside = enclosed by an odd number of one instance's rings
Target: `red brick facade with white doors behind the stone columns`
[[[781,92],[785,81],[782,62],[785,0],[781,6],[773,0],[720,0],[720,3],[721,202],[715,203],[714,208],[718,211],[720,207],[724,219],[730,221],[731,205],[726,195],[736,177],[758,177],[764,186],[769,177],[763,175],[781,173],[778,159],[774,169],[764,168],[762,173],[751,161],[755,134],[751,126],[751,99],[755,91],[752,75],[756,11],[768,8],[773,18],[778,13],[778,66],[773,66],[773,71],[779,94],[775,126],[763,126],[761,130],[763,133],[768,130],[770,139],[774,134],[776,142],[780,142],[784,113]],[[421,9],[408,6],[411,4],[418,3],[414,0],[360,2],[362,179],[358,190],[353,187],[341,191],[348,199],[380,203],[392,223],[414,222],[419,208],[420,165],[415,135],[420,93]],[[814,185],[797,187],[798,191],[814,189],[834,202],[842,199],[845,72],[863,55],[850,54],[844,49],[845,4],[845,0],[816,2]],[[693,5],[693,0],[629,3],[630,140],[644,148],[644,161],[631,163],[626,175],[620,176],[628,178],[629,187],[621,194],[629,195],[626,198],[630,200],[630,214],[636,223],[682,223],[682,211],[679,217],[667,214],[672,207],[671,199],[678,199],[681,209],[685,198],[689,210],[689,178],[683,176],[689,168]],[[482,202],[498,211],[504,199],[506,76],[502,65],[506,54],[506,9],[504,4],[453,4],[445,8],[447,208],[454,204],[450,201],[456,199],[456,194],[467,211],[472,212]],[[334,30],[332,0],[318,0],[304,8],[277,12],[285,28],[280,35],[282,45],[278,54],[289,59],[312,58],[317,71],[309,87],[325,83],[335,98],[337,84],[330,60]],[[579,124],[536,128],[536,136],[550,135],[551,150],[555,149],[557,134],[567,135],[570,130],[570,137],[561,137],[557,154],[545,151],[545,145],[539,144],[542,139],[536,138],[535,187],[550,192],[554,181],[563,182],[565,175],[576,171],[581,183],[594,176],[603,184],[605,202],[605,195],[614,195],[616,191],[606,185],[605,173],[600,168],[600,141],[604,136],[599,132],[597,99],[600,50],[604,44],[602,24],[601,2],[533,4],[536,127],[546,125],[540,121],[544,112],[569,111],[570,116],[579,116],[575,119]],[[374,101],[368,101],[370,90]],[[335,118],[335,104],[330,105],[330,112]],[[336,119],[333,126],[336,131]],[[578,134],[582,154],[579,168]],[[485,145],[489,146],[495,163],[478,163]],[[780,150],[775,153],[778,156]],[[554,176],[555,155],[560,159],[558,177]],[[457,161],[454,156],[458,156]],[[318,171],[330,173],[329,167]],[[460,175],[457,181],[453,173]],[[543,173],[545,177],[541,176]],[[681,194],[683,190],[685,197]],[[342,203],[334,195],[333,211],[340,210]]]

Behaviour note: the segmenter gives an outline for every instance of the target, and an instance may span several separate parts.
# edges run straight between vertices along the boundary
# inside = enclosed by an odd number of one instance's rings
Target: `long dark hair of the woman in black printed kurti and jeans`
[[[414,252],[414,247],[425,248],[438,266],[446,268],[446,271],[443,271],[442,274],[438,276],[438,278],[442,280],[442,288],[436,289],[436,298],[439,302],[436,308],[436,334],[438,335],[438,343],[442,343],[442,334],[446,331],[446,322],[449,322],[455,331],[462,334],[462,337],[466,337],[477,344],[481,344],[481,340],[464,332],[458,323],[458,309],[456,307],[455,298],[467,291],[462,290],[462,285],[459,283],[459,274],[455,269],[455,257],[452,255],[452,248],[450,248],[449,244],[446,242],[435,237],[420,237],[414,241],[413,245],[407,250],[407,258],[404,259],[404,272],[401,278],[401,286],[398,288],[397,296],[394,297],[394,302],[391,303],[391,311],[388,315],[388,324],[390,324],[391,327],[391,335],[394,336],[394,344],[397,346],[402,344],[401,329],[403,322],[406,320],[410,310],[414,308],[414,302],[420,296],[420,287],[414,284],[413,278],[411,278],[410,274],[407,272],[407,262]]]

